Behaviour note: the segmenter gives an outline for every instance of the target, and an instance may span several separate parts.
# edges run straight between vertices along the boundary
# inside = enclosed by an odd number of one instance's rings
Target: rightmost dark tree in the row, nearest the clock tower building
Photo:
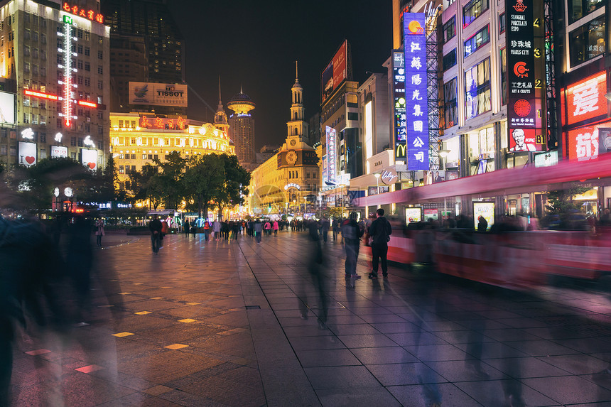
[[[227,205],[244,204],[244,197],[248,195],[247,185],[250,183],[250,173],[239,165],[237,156],[222,154],[220,157],[225,167],[225,180],[212,197],[219,215]]]

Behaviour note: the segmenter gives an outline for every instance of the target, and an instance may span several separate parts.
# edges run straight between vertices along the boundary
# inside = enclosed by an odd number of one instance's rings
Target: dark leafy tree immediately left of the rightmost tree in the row
[[[198,215],[202,211],[207,217],[208,206],[217,190],[222,188],[225,180],[225,163],[217,154],[190,156],[187,158],[187,169],[183,176],[186,197],[193,198],[198,204]]]

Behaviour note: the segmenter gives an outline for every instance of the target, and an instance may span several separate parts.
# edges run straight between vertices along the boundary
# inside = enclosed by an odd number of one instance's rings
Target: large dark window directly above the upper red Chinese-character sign
[[[569,34],[571,67],[585,63],[605,52],[605,18],[580,26]]]

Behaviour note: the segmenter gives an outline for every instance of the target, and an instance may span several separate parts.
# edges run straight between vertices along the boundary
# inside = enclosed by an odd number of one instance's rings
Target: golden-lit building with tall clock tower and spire
[[[252,171],[249,207],[255,216],[284,214],[303,216],[316,211],[319,158],[305,139],[303,88],[296,78],[291,88],[291,121],[286,123],[287,136],[279,152]]]

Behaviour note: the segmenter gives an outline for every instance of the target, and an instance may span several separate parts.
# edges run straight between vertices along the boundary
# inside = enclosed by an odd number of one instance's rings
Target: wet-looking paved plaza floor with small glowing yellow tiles
[[[329,239],[323,299],[305,236],[109,237],[82,323],[18,337],[13,405],[611,406],[609,295],[371,281],[363,253],[345,280]]]

